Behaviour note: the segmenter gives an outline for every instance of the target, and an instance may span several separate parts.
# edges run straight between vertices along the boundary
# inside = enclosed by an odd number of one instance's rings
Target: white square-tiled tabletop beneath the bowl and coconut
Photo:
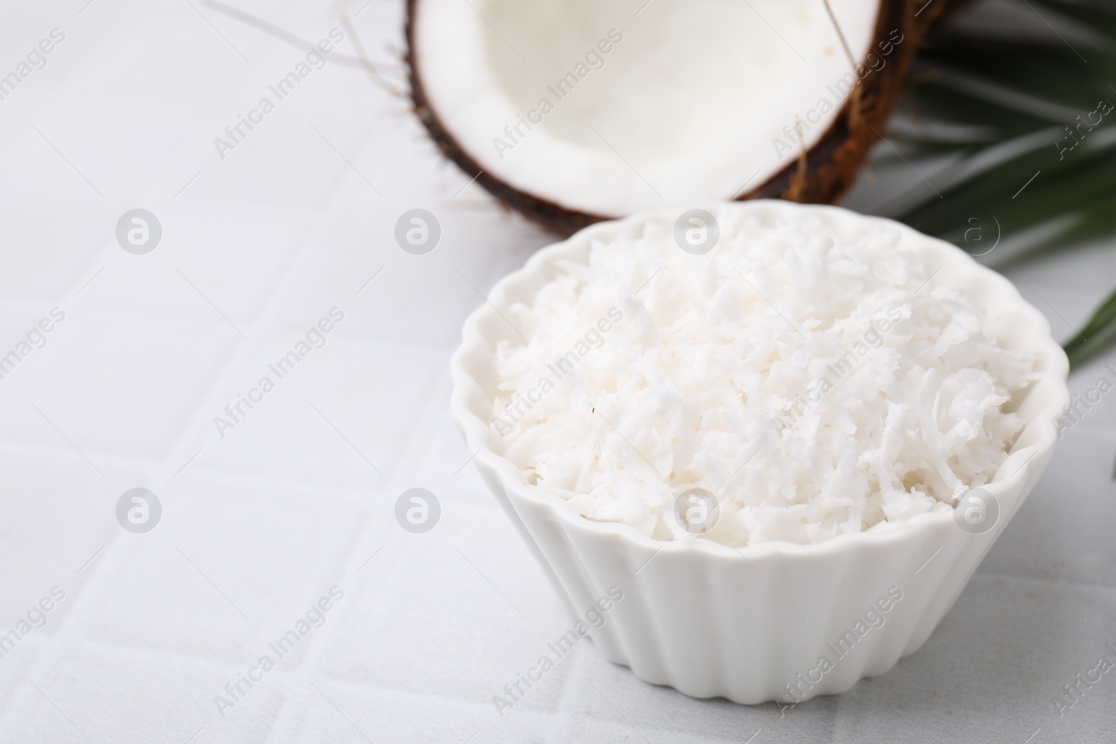
[[[481,301],[470,282],[487,290],[547,236],[459,194],[405,102],[352,64],[356,36],[400,86],[401,0],[239,0],[347,39],[223,161],[212,138],[299,50],[215,2],[85,2],[0,11],[0,74],[66,33],[0,102],[0,355],[66,312],[0,380],[0,632],[66,591],[0,659],[0,740],[1116,741],[1116,676],[1061,718],[1051,703],[1116,644],[1112,400],[929,644],[872,684],[783,711],[693,700],[586,644],[499,716],[492,696],[569,620],[464,466],[446,363]],[[134,207],[163,225],[147,255],[115,242]],[[392,238],[412,207],[441,220],[429,255]],[[1116,284],[1105,247],[1023,272],[1060,337]],[[326,346],[219,436],[213,417],[333,307]],[[142,535],[114,513],[135,486],[164,508]],[[413,486],[443,505],[422,535],[393,518]],[[334,584],[326,625],[222,717],[225,683]]]

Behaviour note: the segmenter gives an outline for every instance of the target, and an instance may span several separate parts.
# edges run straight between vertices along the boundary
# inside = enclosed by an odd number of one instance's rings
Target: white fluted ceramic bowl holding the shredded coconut
[[[624,592],[606,625],[591,631],[612,661],[694,697],[754,704],[840,693],[862,677],[884,674],[926,641],[1035,486],[1058,438],[1055,419],[1069,404],[1066,355],[1046,318],[1007,279],[949,243],[831,206],[753,201],[702,207],[722,225],[742,213],[761,220],[809,214],[847,236],[898,230],[902,244],[942,267],[935,283],[955,283],[984,307],[1002,345],[1040,354],[1042,378],[1018,402],[1026,427],[984,486],[1000,509],[991,530],[971,534],[953,513],[932,512],[811,545],[766,542],[737,550],[709,540],[662,542],[626,524],[583,518],[501,456],[491,427],[493,356],[497,342],[514,331],[493,308],[529,301],[561,273],[561,260],[585,263],[590,241],[638,234],[648,222],[668,234],[681,210],[591,225],[500,280],[491,305],[465,321],[453,356],[453,416],[470,450],[480,451],[475,462],[485,483],[575,617],[584,617],[610,587]]]

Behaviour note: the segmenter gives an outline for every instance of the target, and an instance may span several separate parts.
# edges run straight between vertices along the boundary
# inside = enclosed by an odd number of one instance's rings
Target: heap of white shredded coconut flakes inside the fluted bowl
[[[499,346],[492,425],[528,482],[660,540],[696,537],[675,500],[705,489],[701,537],[737,547],[883,529],[987,483],[1037,355],[999,347],[897,230],[734,222],[705,255],[656,224],[595,243],[506,312],[528,340]]]

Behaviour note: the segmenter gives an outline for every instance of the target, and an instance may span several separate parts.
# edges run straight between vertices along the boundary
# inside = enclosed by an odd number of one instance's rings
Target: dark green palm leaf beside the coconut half
[[[895,216],[963,248],[971,221],[993,216],[1017,245],[990,257],[1001,270],[1116,233],[1116,3],[1018,6],[1046,37],[941,26],[889,123],[904,160],[936,168],[932,186],[892,202]],[[877,162],[899,157],[877,152]],[[1077,365],[1113,345],[1116,292],[1066,352]]]

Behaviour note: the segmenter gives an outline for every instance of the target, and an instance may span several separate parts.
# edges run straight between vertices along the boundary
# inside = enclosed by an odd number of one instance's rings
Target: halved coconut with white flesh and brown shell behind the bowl
[[[412,97],[466,175],[558,232],[709,200],[829,202],[943,4],[408,0]]]

